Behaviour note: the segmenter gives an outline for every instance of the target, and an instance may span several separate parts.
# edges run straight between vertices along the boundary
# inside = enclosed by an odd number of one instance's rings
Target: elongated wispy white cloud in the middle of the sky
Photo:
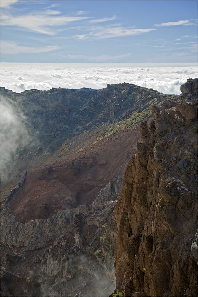
[[[106,27],[93,28],[93,31],[94,30],[97,30],[97,31],[90,32],[89,34],[75,35],[75,37],[77,37],[78,39],[87,39],[89,37],[106,39],[106,38],[112,38],[112,37],[140,35],[156,29],[127,29],[119,26],[119,27],[108,27],[108,28]]]

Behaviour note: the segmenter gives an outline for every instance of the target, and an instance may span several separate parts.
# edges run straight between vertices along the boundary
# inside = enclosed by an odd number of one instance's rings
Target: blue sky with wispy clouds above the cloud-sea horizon
[[[1,0],[1,62],[194,63],[197,1]]]

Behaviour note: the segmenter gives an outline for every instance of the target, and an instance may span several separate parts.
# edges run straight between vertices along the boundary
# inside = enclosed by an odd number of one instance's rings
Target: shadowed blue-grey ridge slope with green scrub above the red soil
[[[5,107],[1,123],[1,199],[17,186],[26,170],[41,170],[43,164],[52,165],[68,157],[74,160],[85,147],[112,140],[126,127],[135,127],[149,116],[153,104],[177,97],[129,83],[108,85],[102,90],[52,88],[19,94],[1,88],[1,107]],[[90,152],[98,153],[96,147]]]

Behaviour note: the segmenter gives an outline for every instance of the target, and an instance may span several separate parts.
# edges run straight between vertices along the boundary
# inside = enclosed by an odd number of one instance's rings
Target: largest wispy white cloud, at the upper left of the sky
[[[8,13],[2,13],[2,26],[15,26],[27,31],[34,31],[42,34],[56,35],[53,26],[63,26],[71,22],[88,19],[89,17],[64,16],[59,15],[58,10],[45,10],[44,12],[34,12],[27,15],[13,16]]]

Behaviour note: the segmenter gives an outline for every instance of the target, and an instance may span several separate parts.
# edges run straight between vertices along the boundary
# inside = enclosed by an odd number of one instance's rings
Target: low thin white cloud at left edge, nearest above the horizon
[[[59,49],[58,45],[47,45],[39,48],[30,46],[21,46],[10,41],[1,41],[1,54],[18,54],[18,53],[45,53]]]

